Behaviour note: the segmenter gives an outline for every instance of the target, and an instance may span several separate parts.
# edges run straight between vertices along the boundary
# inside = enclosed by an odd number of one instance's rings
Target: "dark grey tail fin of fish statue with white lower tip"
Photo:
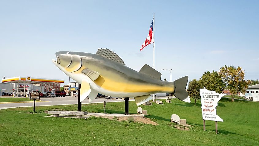
[[[177,79],[174,81],[175,90],[174,90],[174,96],[180,99],[184,102],[191,102],[185,88],[187,86],[188,82],[188,76],[182,77],[180,79]]]

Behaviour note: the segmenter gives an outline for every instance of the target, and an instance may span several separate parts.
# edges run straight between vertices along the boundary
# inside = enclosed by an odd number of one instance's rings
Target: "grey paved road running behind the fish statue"
[[[166,97],[157,97],[156,99],[166,99]],[[78,97],[55,97],[55,98],[40,98],[42,102],[36,102],[36,106],[57,106],[57,105],[68,105],[77,104]],[[105,99],[105,98],[95,98],[91,103],[103,103],[106,102],[124,102],[124,99]],[[130,98],[129,101],[134,101],[134,98]],[[89,104],[89,100],[85,99],[82,104]],[[20,103],[1,103],[0,109],[9,109],[15,107],[29,107],[33,106],[33,102],[20,102]]]

